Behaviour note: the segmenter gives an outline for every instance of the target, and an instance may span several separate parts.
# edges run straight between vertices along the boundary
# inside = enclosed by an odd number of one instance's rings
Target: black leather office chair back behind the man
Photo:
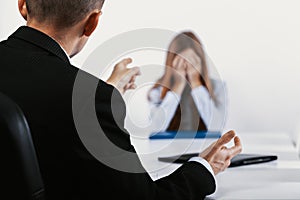
[[[26,118],[0,93],[0,199],[45,199],[44,185]]]

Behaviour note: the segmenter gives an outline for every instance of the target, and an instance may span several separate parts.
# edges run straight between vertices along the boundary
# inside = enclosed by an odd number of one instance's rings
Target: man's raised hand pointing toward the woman
[[[127,67],[130,63],[132,63],[131,58],[123,59],[117,63],[111,76],[106,81],[108,84],[117,88],[122,94],[127,90],[135,89],[135,79],[137,76],[141,75],[139,67]]]

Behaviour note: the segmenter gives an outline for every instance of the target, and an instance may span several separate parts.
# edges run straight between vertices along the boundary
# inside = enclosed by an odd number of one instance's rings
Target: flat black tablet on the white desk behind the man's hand
[[[182,155],[168,156],[168,157],[158,157],[159,161],[170,162],[170,163],[184,163],[190,158],[198,156],[199,153],[188,153]],[[231,164],[229,167],[238,167],[243,165],[259,164],[277,160],[276,155],[264,155],[264,154],[238,154],[231,159]]]

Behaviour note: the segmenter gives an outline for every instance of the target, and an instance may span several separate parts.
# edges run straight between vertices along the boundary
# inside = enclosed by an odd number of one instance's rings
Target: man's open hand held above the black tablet
[[[228,148],[225,144],[234,139],[234,146]],[[224,171],[230,165],[230,160],[242,151],[240,138],[234,131],[229,131],[199,154],[212,167],[215,175]]]

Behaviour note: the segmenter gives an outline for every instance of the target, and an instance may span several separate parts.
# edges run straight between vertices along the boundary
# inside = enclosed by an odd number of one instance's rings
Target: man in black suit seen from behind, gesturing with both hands
[[[104,82],[74,67],[69,60],[81,51],[96,29],[103,3],[104,0],[19,0],[27,26],[0,43],[0,92],[15,100],[27,117],[46,196],[175,200],[201,199],[212,194],[216,189],[214,176],[225,170],[230,159],[241,151],[240,140],[233,131],[224,134],[199,157],[157,181],[145,171],[122,171],[100,162],[80,140],[72,110],[73,85],[78,73],[87,87],[97,83],[92,102],[105,136],[119,149],[135,155],[131,157],[133,162],[126,163],[129,168],[143,169],[124,128],[126,108],[121,96],[134,89],[139,69],[127,68],[131,59],[124,59]],[[82,95],[77,103],[84,113],[89,95],[84,96],[84,91]],[[117,107],[117,116],[112,106]],[[90,131],[89,127],[86,131]],[[232,139],[235,145],[225,147]],[[116,158],[114,164],[122,165],[118,158],[124,160],[123,155],[110,149],[104,151],[109,158]]]

